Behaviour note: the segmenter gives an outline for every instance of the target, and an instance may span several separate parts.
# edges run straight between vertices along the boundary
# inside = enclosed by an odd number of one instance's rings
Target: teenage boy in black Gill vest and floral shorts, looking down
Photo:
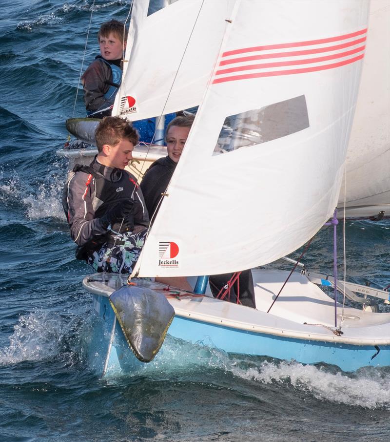
[[[126,120],[105,117],[95,133],[98,155],[71,171],[62,205],[77,257],[97,272],[131,273],[149,216],[136,178],[124,168],[138,143]]]

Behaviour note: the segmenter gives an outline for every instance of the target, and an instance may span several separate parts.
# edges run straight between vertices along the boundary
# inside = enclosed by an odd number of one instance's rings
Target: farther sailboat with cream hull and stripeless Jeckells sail
[[[135,122],[139,131],[141,143],[135,147],[133,161],[127,168],[139,181],[154,161],[166,155],[166,149],[161,147],[164,129],[176,112],[192,111],[199,105],[225,30],[225,22],[219,18],[228,13],[233,4],[225,0],[206,1],[200,15],[197,0],[180,0],[173,13],[170,11],[167,15],[162,11],[175,2],[136,0],[131,5],[133,25],[129,29],[127,44],[132,49],[126,50],[122,93],[118,93],[121,99],[116,101],[112,114],[126,116]],[[160,19],[161,12],[163,20]],[[139,26],[136,31],[135,21]],[[164,38],[151,38],[151,29],[153,35],[163,35]],[[153,54],[153,58],[148,54]],[[135,65],[138,60],[142,60],[142,66]],[[151,63],[153,68],[149,68]],[[164,68],[157,69],[156,66]],[[136,89],[134,84],[137,84]],[[168,86],[173,86],[171,91]],[[61,148],[57,155],[66,157],[71,167],[76,163],[90,164],[97,154],[95,130],[99,121],[69,118],[66,128],[81,142],[76,144],[81,148]],[[84,144],[88,147],[85,148]]]

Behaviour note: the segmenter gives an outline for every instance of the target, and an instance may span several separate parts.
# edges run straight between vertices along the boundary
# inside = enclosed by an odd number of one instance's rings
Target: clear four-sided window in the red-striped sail
[[[285,137],[309,127],[304,95],[226,117],[213,155]]]

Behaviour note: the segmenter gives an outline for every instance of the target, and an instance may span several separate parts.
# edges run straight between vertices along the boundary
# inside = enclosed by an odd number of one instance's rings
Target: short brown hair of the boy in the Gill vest
[[[116,146],[122,140],[130,141],[134,146],[138,144],[139,136],[137,130],[131,123],[120,117],[104,117],[95,131],[96,145],[98,152],[103,150],[103,146]]]

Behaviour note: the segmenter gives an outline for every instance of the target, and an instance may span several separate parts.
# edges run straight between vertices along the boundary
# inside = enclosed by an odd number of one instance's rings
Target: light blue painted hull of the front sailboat
[[[131,353],[106,296],[94,295],[102,326],[91,341],[90,363],[103,375],[128,373],[143,363]],[[212,345],[228,353],[269,356],[304,364],[325,362],[351,372],[365,366],[390,365],[389,346],[357,346],[254,333],[175,316],[168,333],[191,343]],[[112,344],[110,345],[110,339]],[[211,343],[211,344],[210,344]],[[157,355],[158,358],[158,355]]]

